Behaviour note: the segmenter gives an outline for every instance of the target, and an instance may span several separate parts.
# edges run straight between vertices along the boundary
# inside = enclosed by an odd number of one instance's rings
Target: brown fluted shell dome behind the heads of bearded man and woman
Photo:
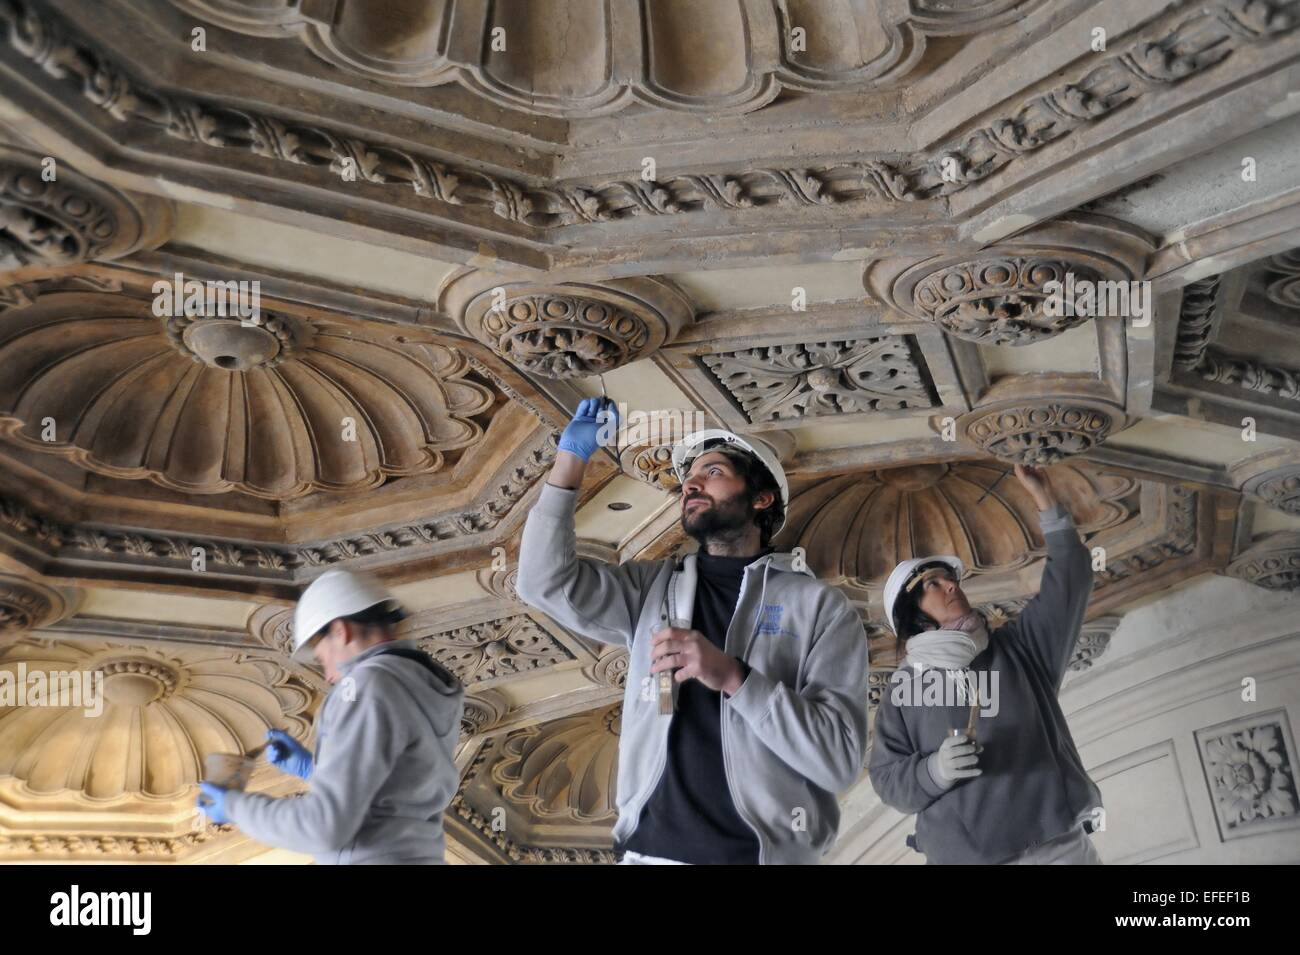
[[[1080,528],[1098,530],[1128,516],[1121,500],[1134,490],[1128,478],[1061,465],[1050,479]],[[935,554],[957,555],[975,574],[1024,567],[1043,551],[1037,513],[1004,465],[920,464],[796,490],[775,546],[802,547],[823,579],[879,589],[898,561]]]

